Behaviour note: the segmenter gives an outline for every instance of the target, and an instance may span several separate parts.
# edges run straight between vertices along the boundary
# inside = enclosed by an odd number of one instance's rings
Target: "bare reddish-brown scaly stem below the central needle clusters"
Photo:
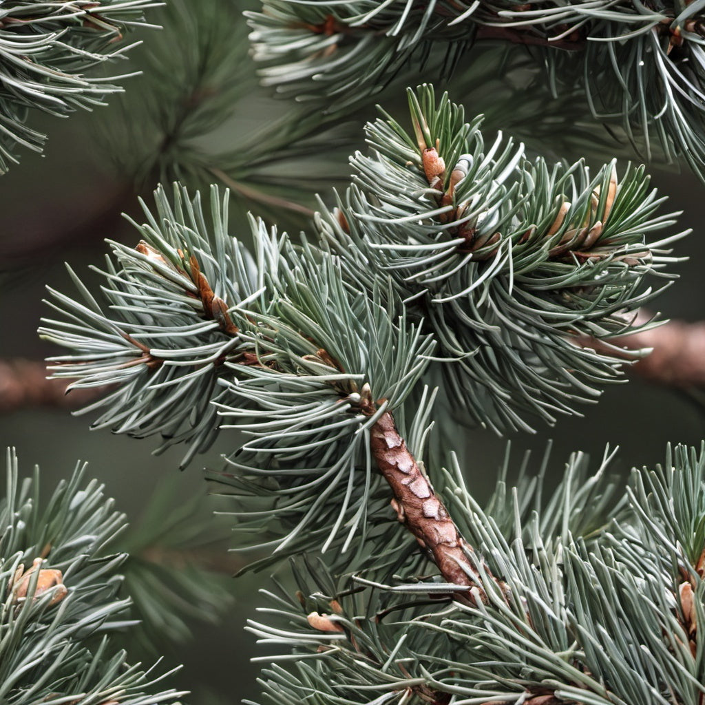
[[[473,549],[463,539],[431,482],[399,435],[390,412],[370,429],[370,447],[379,471],[394,494],[398,520],[414,535],[436,563],[443,578],[454,585],[479,587],[482,582],[468,559]]]

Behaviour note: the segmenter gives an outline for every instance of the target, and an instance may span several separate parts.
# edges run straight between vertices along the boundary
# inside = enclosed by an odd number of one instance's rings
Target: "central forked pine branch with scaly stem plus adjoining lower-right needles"
[[[109,384],[99,425],[186,441],[185,462],[229,443],[212,479],[235,528],[299,586],[250,625],[282,649],[265,701],[697,705],[703,455],[669,451],[626,494],[576,455],[548,501],[523,479],[486,512],[429,444],[424,386],[497,430],[597,393],[625,352],[594,341],[668,281],[673,216],[643,168],[529,161],[431,87],[409,97],[410,128],[368,125],[298,244],[252,219],[250,251],[227,194],[207,216],[158,190],[104,302],[75,274],[80,298],[51,292],[55,374]]]

